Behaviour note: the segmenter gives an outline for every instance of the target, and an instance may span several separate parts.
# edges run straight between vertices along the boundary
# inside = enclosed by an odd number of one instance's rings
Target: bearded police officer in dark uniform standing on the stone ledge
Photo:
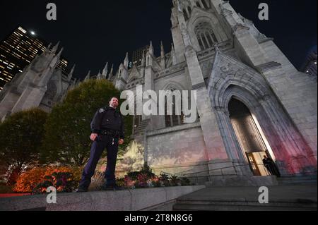
[[[90,150],[90,159],[83,171],[82,179],[77,192],[87,192],[91,178],[95,173],[96,166],[102,152],[107,149],[107,169],[105,172],[106,183],[104,190],[117,190],[115,167],[117,161],[118,145],[124,144],[124,120],[122,114],[117,111],[119,101],[116,97],[110,100],[110,106],[99,109],[90,127],[92,134],[90,140],[93,141]]]

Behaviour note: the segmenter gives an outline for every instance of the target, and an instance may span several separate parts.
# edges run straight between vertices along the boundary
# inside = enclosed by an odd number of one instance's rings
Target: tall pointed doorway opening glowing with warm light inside
[[[228,104],[230,121],[240,144],[243,157],[249,163],[254,176],[269,176],[269,171],[263,164],[264,156],[272,158],[267,149],[260,128],[247,106],[232,97]]]

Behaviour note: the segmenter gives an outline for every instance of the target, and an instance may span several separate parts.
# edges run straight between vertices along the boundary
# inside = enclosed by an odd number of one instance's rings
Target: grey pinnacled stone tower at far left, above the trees
[[[61,56],[61,49],[57,52],[59,44],[51,49],[51,44],[37,56],[22,73],[18,73],[10,83],[0,92],[0,119],[6,116],[39,107],[50,111],[56,102],[60,102],[66,91],[73,85],[71,73],[66,77],[62,74],[57,63]]]

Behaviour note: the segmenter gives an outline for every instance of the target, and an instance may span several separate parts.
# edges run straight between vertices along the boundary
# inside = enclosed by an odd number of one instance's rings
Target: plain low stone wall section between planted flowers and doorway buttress
[[[157,172],[163,169],[175,174],[198,167],[208,160],[200,124],[184,124],[148,133],[147,155],[149,166]]]

